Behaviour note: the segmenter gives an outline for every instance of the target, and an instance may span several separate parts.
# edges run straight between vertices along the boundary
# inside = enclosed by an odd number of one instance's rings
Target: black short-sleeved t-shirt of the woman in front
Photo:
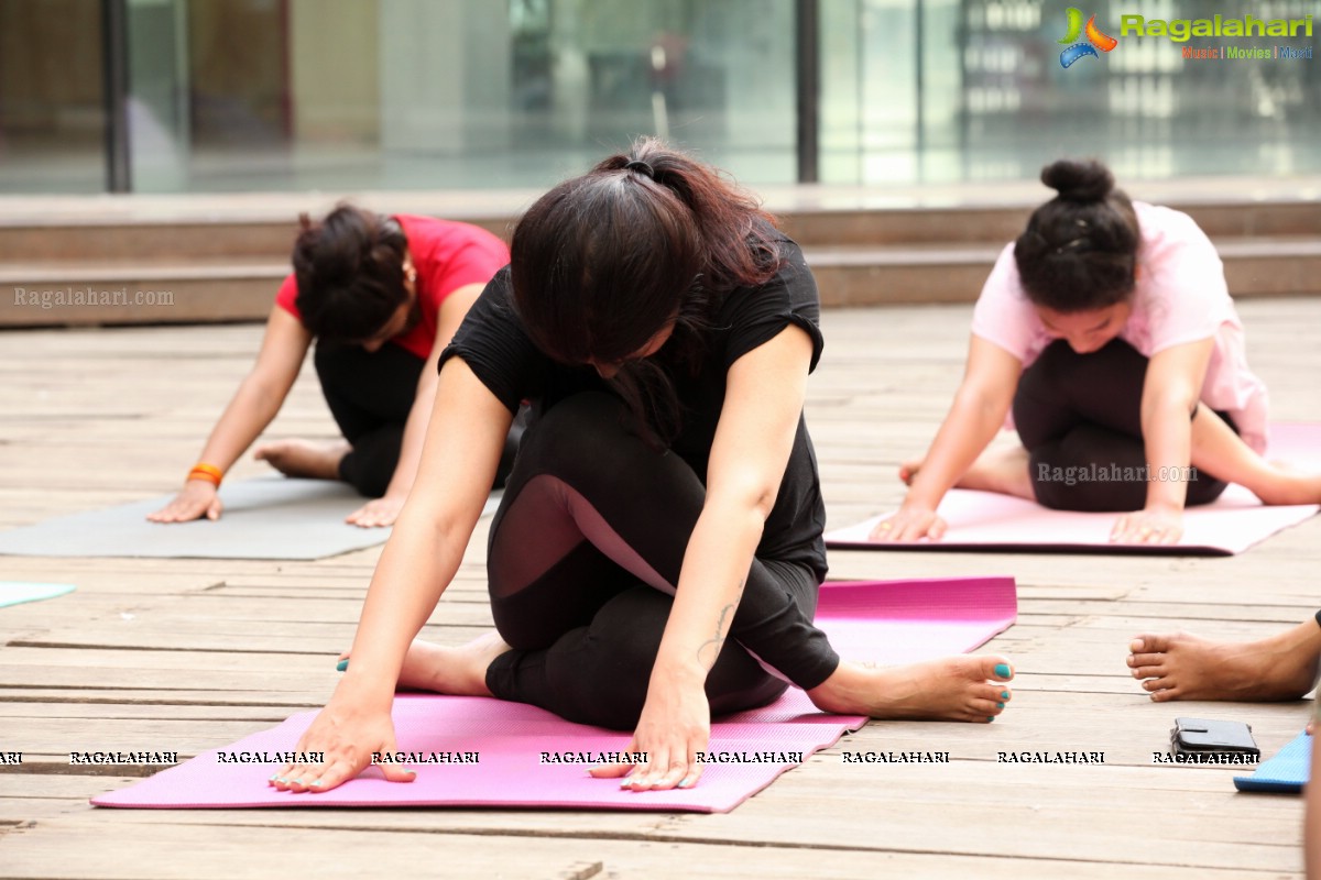
[[[682,456],[705,483],[711,445],[725,400],[729,367],[742,355],[769,342],[794,323],[812,339],[810,369],[816,368],[824,339],[820,327],[820,298],[802,251],[781,239],[783,265],[766,284],[737,288],[724,294],[704,331],[705,346],[696,371],[666,369],[680,405],[683,422],[671,450]],[[569,394],[583,391],[609,391],[589,365],[559,364],[532,344],[513,307],[509,267],[501,269],[469,310],[453,340],[441,352],[440,363],[462,358],[473,373],[501,402],[517,412],[524,400],[534,413],[544,412]],[[663,368],[664,348],[654,359]],[[779,484],[775,505],[766,519],[757,555],[812,567],[826,577],[826,505],[820,496],[816,453],[807,424],[798,418],[794,449]]]

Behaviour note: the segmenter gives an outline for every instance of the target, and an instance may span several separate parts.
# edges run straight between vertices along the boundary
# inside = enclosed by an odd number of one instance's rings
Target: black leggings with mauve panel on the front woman
[[[514,650],[490,665],[486,685],[501,699],[631,730],[705,487],[621,417],[614,398],[583,393],[526,434],[487,553],[495,628]],[[713,714],[764,706],[785,678],[808,689],[835,672],[839,656],[811,623],[819,586],[807,565],[753,561],[707,677]]]

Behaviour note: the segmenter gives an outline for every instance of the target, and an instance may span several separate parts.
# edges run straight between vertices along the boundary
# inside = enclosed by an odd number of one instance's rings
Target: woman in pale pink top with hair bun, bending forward
[[[1041,179],[1058,195],[996,261],[954,405],[872,540],[938,540],[954,486],[1123,513],[1111,540],[1127,544],[1176,544],[1184,507],[1227,483],[1266,504],[1321,501],[1321,475],[1262,458],[1266,387],[1192,218],[1131,202],[1095,161],[1061,160]],[[987,451],[1001,425],[1022,445]]]

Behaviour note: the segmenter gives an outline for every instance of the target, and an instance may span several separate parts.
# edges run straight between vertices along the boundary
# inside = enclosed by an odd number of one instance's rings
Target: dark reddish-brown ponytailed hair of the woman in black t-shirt
[[[674,321],[666,360],[690,369],[721,296],[765,284],[782,261],[770,214],[654,137],[538,199],[510,255],[514,307],[551,359],[624,361]],[[672,438],[678,405],[658,367],[626,361],[614,385],[634,416]]]

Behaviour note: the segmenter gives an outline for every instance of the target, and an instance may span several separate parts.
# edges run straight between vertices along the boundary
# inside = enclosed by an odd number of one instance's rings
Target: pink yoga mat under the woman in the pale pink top
[[[1272,425],[1268,458],[1321,470],[1321,425]],[[873,544],[872,528],[893,511],[865,522],[826,533],[826,546],[849,550],[1001,550],[1073,553],[1153,553],[1166,555],[1232,555],[1281,529],[1316,516],[1321,507],[1266,507],[1242,486],[1230,486],[1213,504],[1188,508],[1184,538],[1172,546],[1111,544],[1116,513],[1050,511],[1034,501],[950,489],[939,515],[948,530],[939,541]]]

